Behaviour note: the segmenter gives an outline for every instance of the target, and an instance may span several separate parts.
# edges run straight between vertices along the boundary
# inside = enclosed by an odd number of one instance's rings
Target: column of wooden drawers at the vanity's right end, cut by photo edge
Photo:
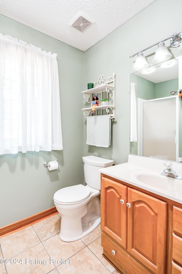
[[[172,274],[182,273],[182,209],[173,206]]]

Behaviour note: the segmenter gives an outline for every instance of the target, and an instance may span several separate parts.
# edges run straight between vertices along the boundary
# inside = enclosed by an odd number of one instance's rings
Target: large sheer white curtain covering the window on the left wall
[[[63,149],[56,56],[0,33],[0,154]]]

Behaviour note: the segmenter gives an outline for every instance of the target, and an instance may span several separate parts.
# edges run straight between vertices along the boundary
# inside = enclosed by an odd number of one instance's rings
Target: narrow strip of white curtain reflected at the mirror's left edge
[[[135,83],[130,84],[130,142],[137,142],[137,104]]]

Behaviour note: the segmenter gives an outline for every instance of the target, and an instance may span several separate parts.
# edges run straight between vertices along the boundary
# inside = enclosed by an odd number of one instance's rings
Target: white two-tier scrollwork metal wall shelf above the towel
[[[103,110],[105,109],[106,115],[109,115],[111,119],[115,118],[115,73],[113,73],[113,76],[108,77],[107,81],[104,74],[102,74],[102,76],[99,76],[98,82],[94,83],[93,88],[84,90],[81,93],[84,98],[88,98],[87,102],[90,104],[90,107],[82,108],[85,116],[86,113],[92,115],[92,97],[93,94],[96,94],[100,102],[99,106],[95,107],[96,115],[98,115],[97,110],[101,110],[101,115],[103,115]],[[108,99],[107,105],[102,105],[101,100],[105,98]]]

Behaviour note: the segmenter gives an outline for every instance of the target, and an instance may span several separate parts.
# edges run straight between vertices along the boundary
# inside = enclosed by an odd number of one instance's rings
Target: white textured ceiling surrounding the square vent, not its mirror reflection
[[[1,0],[0,13],[86,51],[155,0]],[[68,24],[78,12],[95,21],[81,33]]]

